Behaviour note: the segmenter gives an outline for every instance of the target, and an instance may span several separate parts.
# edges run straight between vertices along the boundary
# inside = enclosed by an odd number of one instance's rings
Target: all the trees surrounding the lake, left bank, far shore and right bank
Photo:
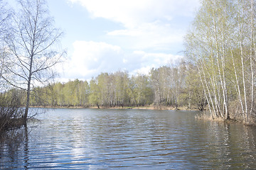
[[[65,54],[53,47],[63,33],[44,1],[19,1],[17,12],[0,2],[3,122],[6,112],[26,122],[30,106],[169,106],[196,108],[211,119],[256,122],[255,0],[201,1],[184,38],[184,57],[175,64],[148,74],[102,72],[66,83],[53,81],[54,66]],[[17,103],[25,110],[6,111],[20,108]]]

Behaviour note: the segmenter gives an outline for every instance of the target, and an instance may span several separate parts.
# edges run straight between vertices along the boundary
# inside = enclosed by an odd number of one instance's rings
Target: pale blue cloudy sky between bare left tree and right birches
[[[102,72],[147,74],[183,57],[199,0],[48,0],[67,51],[59,81]]]

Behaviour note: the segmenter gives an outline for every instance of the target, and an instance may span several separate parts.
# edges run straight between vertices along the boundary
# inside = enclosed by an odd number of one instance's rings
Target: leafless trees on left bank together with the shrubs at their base
[[[17,0],[16,8],[8,6],[7,1],[0,0],[0,118],[23,119],[26,124],[35,84],[55,75],[53,66],[62,57],[55,45],[63,33],[53,26],[44,0]],[[8,89],[13,90],[6,93]],[[3,98],[9,102],[2,102]],[[25,106],[23,112],[17,109],[21,106]],[[4,126],[8,125],[0,125]]]

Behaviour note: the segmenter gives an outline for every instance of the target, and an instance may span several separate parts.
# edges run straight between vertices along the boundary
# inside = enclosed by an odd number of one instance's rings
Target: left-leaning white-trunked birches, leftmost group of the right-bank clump
[[[225,22],[220,6],[227,6],[228,1],[203,1],[193,23],[193,30],[188,33],[187,51],[193,56],[201,74],[201,82],[208,101],[209,111],[215,117],[229,119],[228,89],[225,78]]]

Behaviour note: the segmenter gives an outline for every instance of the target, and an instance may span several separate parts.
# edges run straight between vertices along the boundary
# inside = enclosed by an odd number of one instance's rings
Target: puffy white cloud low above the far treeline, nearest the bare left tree
[[[74,52],[65,66],[65,76],[70,79],[90,79],[100,72],[110,72],[122,62],[122,50],[105,42],[76,41]]]

